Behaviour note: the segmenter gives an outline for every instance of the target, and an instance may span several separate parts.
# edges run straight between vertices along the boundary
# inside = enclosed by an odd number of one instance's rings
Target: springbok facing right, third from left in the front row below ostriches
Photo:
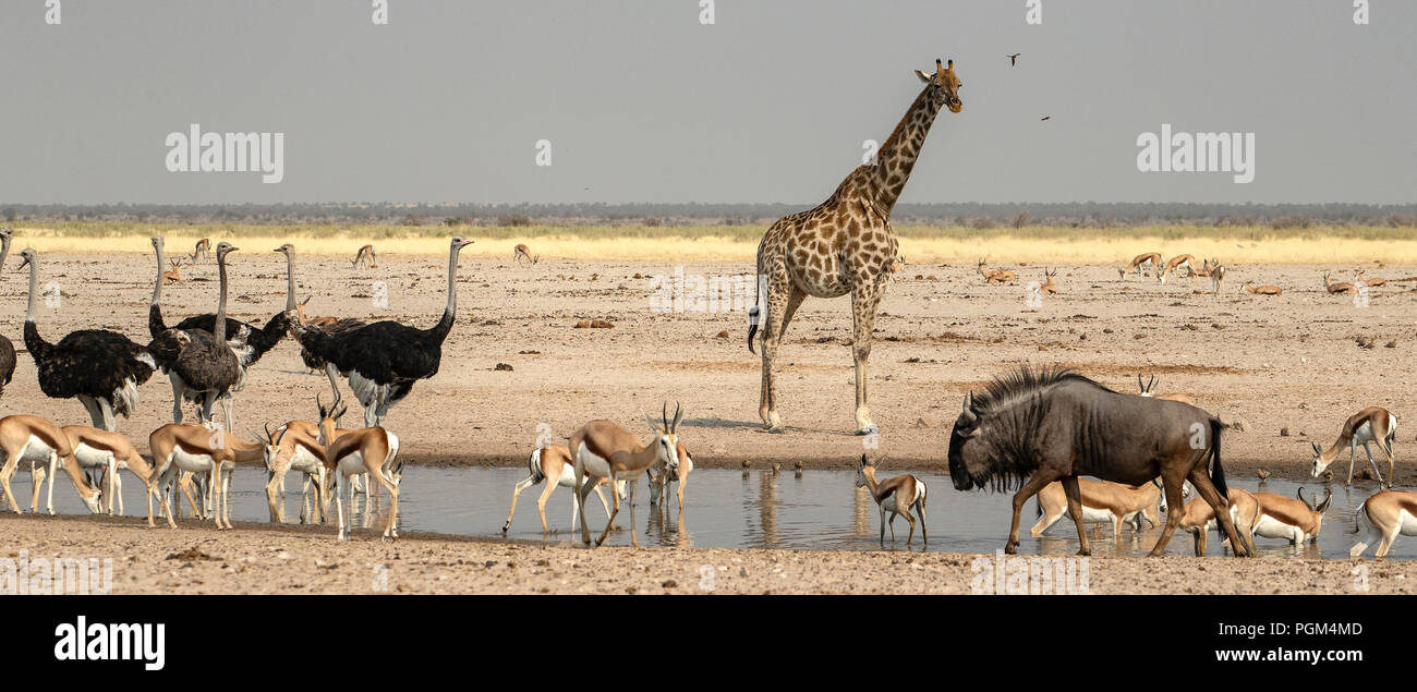
[[[200,478],[205,475],[203,506],[211,509],[217,529],[231,528],[231,472],[237,464],[256,464],[265,459],[265,447],[258,442],[242,442],[237,435],[205,425],[169,423],[147,435],[153,455],[150,476],[157,478],[157,488],[166,489],[179,472]],[[180,505],[180,498],[177,505]],[[163,509],[173,516],[171,503],[163,498]],[[147,496],[149,523],[153,516],[153,499]]]

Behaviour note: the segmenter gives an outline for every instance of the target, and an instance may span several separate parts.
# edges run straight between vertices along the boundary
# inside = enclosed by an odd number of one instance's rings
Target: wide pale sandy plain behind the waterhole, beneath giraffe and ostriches
[[[252,247],[231,260],[231,309],[264,322],[283,306],[283,258]],[[381,255],[378,269],[353,269],[344,258],[300,257],[296,272],[302,298],[312,296],[310,315],[432,326],[444,306],[445,265],[444,258]],[[1159,391],[1186,393],[1213,413],[1243,417],[1247,430],[1224,441],[1233,474],[1265,467],[1302,476],[1309,440],[1328,445],[1348,415],[1383,406],[1400,421],[1399,481],[1417,478],[1417,467],[1403,461],[1403,444],[1417,428],[1401,423],[1417,421],[1410,396],[1417,384],[1414,284],[1376,288],[1370,305],[1356,308],[1352,296],[1328,295],[1321,285],[1323,269],[1346,281],[1353,267],[1233,267],[1220,296],[1210,295],[1209,279],[1159,285],[1119,281],[1112,267],[1063,267],[1061,291],[1032,309],[1023,282],[1041,279],[1043,268],[1012,268],[1020,284],[988,286],[972,265],[905,267],[877,320],[870,401],[881,432],[867,440],[852,434],[845,298],[809,299],[788,329],[778,377],[788,431],[768,434],[758,421],[760,359],[747,350],[741,303],[733,312],[653,312],[650,298],[652,275],[727,277],[751,267],[466,261],[442,369],[417,384],[385,425],[398,432],[408,462],[520,465],[546,431],[561,441],[582,423],[606,417],[643,432],[640,411],[657,413],[667,400],[670,408],[673,401],[687,408],[682,435],[700,465],[801,459],[811,468],[845,467],[874,442],[897,468],[942,471],[966,390],[1020,363],[1067,364],[1121,391],[1135,391],[1138,373],[1159,374]],[[1387,278],[1417,274],[1417,267],[1366,268]],[[150,255],[44,255],[41,269],[41,284],[57,281],[62,296],[57,309],[41,302],[38,325],[47,339],[99,326],[146,342]],[[183,274],[187,281],[166,291],[169,323],[215,309],[215,267],[184,267]],[[1244,294],[1247,279],[1277,284],[1285,294]],[[374,305],[377,282],[387,286],[387,306]],[[17,346],[24,288],[23,272],[0,277],[0,315],[10,315],[0,333]],[[591,319],[615,326],[575,329]],[[1356,337],[1373,339],[1374,347]],[[499,363],[513,370],[495,370]],[[322,390],[324,377],[306,373],[295,342],[282,342],[237,396],[238,431],[310,418]],[[170,391],[154,376],[142,387],[139,413],[120,420],[140,451],[147,431],[170,420]],[[357,420],[359,406],[353,408]],[[78,401],[38,391],[24,353],[4,410],[88,423]]]

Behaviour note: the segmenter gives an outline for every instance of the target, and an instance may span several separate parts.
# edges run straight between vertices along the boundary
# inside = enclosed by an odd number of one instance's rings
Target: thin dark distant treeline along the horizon
[[[163,224],[397,224],[584,225],[762,224],[812,204],[6,204],[16,221],[139,221]],[[1153,203],[959,203],[897,204],[897,224],[975,228],[1141,224],[1189,225],[1389,225],[1417,227],[1417,204],[1153,204]]]

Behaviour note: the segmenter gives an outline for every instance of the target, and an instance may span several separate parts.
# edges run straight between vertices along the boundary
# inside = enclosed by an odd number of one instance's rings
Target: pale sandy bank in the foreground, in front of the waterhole
[[[999,564],[995,556],[951,553],[587,550],[564,542],[428,533],[397,542],[367,536],[337,542],[332,530],[292,525],[237,523],[218,535],[194,520],[173,530],[149,529],[140,519],[89,516],[3,515],[0,533],[3,554],[17,557],[23,547],[31,563],[112,557],[113,594],[969,594],[992,586],[989,576]],[[1006,563],[1003,570],[1015,574],[1016,567]],[[1417,563],[1091,557],[1083,593],[1411,594]]]

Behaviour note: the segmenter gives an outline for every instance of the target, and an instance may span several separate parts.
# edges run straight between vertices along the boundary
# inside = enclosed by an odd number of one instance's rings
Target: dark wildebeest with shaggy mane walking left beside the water
[[[1236,554],[1253,554],[1230,520],[1220,467],[1219,418],[1180,401],[1112,391],[1081,374],[1022,367],[989,383],[988,391],[965,396],[964,411],[949,435],[949,479],[955,489],[1019,488],[1005,552],[1019,546],[1019,510],[1053,481],[1063,482],[1068,513],[1088,554],[1077,478],[1088,475],[1141,485],[1161,476],[1166,502],[1182,506],[1182,485],[1190,481],[1216,508]],[[1210,475],[1206,475],[1206,467]],[[1166,528],[1152,547],[1161,554],[1180,522],[1166,515]]]

